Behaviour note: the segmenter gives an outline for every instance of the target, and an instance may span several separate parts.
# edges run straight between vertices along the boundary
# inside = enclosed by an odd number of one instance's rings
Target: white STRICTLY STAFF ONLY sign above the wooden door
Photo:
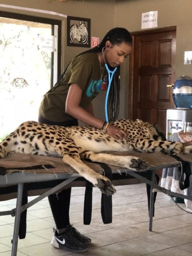
[[[157,10],[143,12],[141,16],[141,29],[157,27],[157,15]]]

